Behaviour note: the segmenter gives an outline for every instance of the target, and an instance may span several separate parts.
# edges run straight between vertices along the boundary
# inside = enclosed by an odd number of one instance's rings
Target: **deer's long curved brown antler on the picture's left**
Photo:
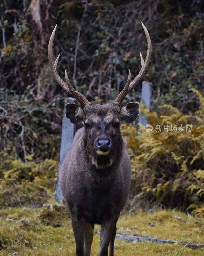
[[[76,100],[78,100],[83,106],[89,104],[89,101],[84,97],[84,95],[82,95],[80,92],[77,92],[71,85],[71,83],[69,82],[68,84],[66,84],[62,78],[58,75],[56,67],[57,67],[57,63],[59,60],[60,55],[58,55],[57,59],[55,60],[55,63],[53,61],[53,51],[52,51],[52,47],[53,47],[53,41],[54,41],[54,36],[55,36],[55,31],[56,31],[57,25],[55,26],[55,28],[53,29],[53,32],[50,36],[50,41],[48,44],[48,59],[49,59],[49,64],[50,64],[50,68],[52,71],[53,76],[55,77],[55,80],[57,81],[57,83],[69,94],[72,94]],[[68,79],[69,81],[69,79]],[[69,88],[73,88],[74,93],[71,92],[71,90]],[[73,91],[72,90],[72,91]]]

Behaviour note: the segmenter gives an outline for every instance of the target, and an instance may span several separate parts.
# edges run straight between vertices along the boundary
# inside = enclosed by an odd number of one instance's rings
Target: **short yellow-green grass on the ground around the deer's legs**
[[[75,255],[75,242],[69,212],[63,207],[7,208],[0,210],[0,255]],[[154,226],[149,223],[155,224]],[[139,211],[122,214],[117,232],[153,236],[192,243],[204,243],[204,219],[177,211]],[[98,255],[100,226],[96,225],[91,255]],[[128,243],[115,240],[116,256],[201,256],[204,248],[190,249],[178,244]]]

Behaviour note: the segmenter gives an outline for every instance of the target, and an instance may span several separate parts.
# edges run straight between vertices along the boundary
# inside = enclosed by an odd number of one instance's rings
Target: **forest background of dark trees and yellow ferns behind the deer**
[[[125,210],[160,207],[204,215],[203,1],[0,1],[0,206],[40,207],[55,200],[66,92],[53,79],[47,47],[88,100],[114,100],[152,57],[148,123],[193,125],[190,132],[121,125],[132,161]],[[140,101],[141,83],[124,104]]]

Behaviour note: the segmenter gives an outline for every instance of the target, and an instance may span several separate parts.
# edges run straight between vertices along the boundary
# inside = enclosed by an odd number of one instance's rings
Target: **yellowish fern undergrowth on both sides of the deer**
[[[143,109],[153,127],[169,126],[169,131],[146,132],[145,127],[121,125],[128,142],[132,161],[130,210],[139,207],[177,208],[204,216],[204,98],[192,115],[183,115],[171,105],[163,105],[157,113]],[[191,125],[191,131],[170,131],[171,125]],[[0,153],[0,206],[40,207],[54,199],[58,164],[26,156],[26,162],[6,151]]]

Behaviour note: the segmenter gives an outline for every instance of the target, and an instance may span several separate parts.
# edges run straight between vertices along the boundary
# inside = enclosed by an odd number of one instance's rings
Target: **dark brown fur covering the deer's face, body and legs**
[[[70,106],[70,113],[69,105],[65,109],[66,116],[70,114],[69,118],[76,123],[73,104]],[[99,255],[107,256],[110,244],[109,252],[113,256],[116,222],[126,203],[131,181],[130,159],[118,125],[122,117],[117,103],[112,101],[105,105],[91,102],[83,111],[85,126],[76,132],[73,146],[62,164],[60,186],[71,212],[76,255],[90,255],[93,226],[98,223],[101,224]],[[97,154],[95,141],[100,136],[112,141],[107,156]]]

